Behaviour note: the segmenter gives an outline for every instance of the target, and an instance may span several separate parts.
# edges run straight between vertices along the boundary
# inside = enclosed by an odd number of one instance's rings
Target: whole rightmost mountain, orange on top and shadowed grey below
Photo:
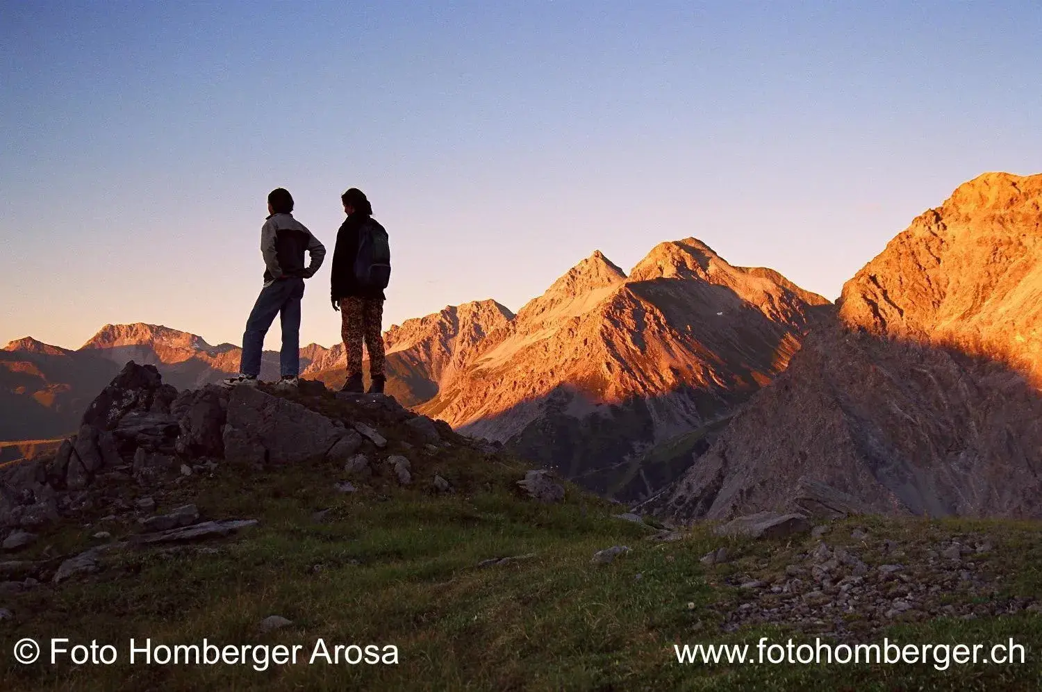
[[[1042,516],[1042,175],[961,186],[838,305],[649,505],[726,518],[816,483],[875,512]]]

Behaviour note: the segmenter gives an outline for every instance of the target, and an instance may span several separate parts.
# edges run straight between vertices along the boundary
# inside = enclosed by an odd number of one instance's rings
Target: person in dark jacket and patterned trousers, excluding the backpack
[[[370,394],[382,394],[387,378],[383,374],[384,295],[381,289],[362,287],[354,276],[354,261],[358,252],[358,230],[372,217],[373,207],[366,195],[351,188],[341,196],[347,218],[337,231],[337,247],[332,253],[330,299],[332,308],[341,315],[341,337],[347,351],[347,381],[342,392],[362,393],[362,344],[369,349]]]

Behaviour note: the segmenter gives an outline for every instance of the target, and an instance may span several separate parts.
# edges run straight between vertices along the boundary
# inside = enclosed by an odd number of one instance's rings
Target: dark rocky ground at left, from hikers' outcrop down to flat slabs
[[[333,484],[339,493],[356,492],[352,481],[381,478],[450,493],[438,474],[414,478],[411,458],[429,460],[453,444],[477,453],[498,449],[413,414],[393,397],[333,395],[315,381],[291,393],[217,386],[177,392],[153,366],[128,363],[56,453],[0,467],[0,603],[43,582],[97,572],[106,554],[120,550],[177,545],[164,553],[177,554],[183,544],[255,525],[255,518],[206,518],[194,503],[179,504],[223,465],[260,470],[320,460],[342,469]],[[34,560],[17,559],[40,534],[77,522],[95,545],[70,554],[50,544]],[[0,619],[10,617],[0,609]]]

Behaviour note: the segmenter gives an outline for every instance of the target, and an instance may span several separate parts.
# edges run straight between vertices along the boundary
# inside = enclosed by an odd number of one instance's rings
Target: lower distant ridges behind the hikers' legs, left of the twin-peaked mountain
[[[393,325],[384,335],[388,393],[403,405],[429,399],[487,331],[512,317],[494,300],[483,300]],[[343,385],[343,344],[311,344],[300,354],[303,376]],[[231,344],[212,346],[194,333],[140,322],[106,324],[78,350],[31,337],[13,341],[0,351],[0,440],[71,434],[93,396],[128,361],[156,366],[164,380],[177,389],[196,389],[237,373],[241,355],[242,349]],[[265,351],[260,378],[278,375],[278,353]],[[20,447],[9,445],[5,453],[16,449]]]

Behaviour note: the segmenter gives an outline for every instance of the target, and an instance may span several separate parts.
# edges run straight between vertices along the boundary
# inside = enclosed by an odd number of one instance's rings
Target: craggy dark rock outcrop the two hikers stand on
[[[427,445],[438,450],[447,439],[461,440],[442,421],[418,416],[391,397],[362,397],[340,407],[339,416],[328,414],[333,404],[340,401],[321,382],[306,380],[289,398],[254,387],[177,392],[164,384],[155,366],[130,362],[88,406],[77,434],[56,452],[0,467],[0,542],[10,539],[14,546],[21,534],[6,529],[25,532],[74,516],[102,497],[125,506],[119,493],[125,484],[152,494],[225,462],[265,467],[328,462],[368,483],[374,467],[366,454],[382,456],[392,446],[386,428],[380,430],[384,425],[398,430],[395,449]],[[349,417],[345,411],[351,412]],[[382,467],[398,485],[413,483],[419,473],[400,452],[383,459]],[[156,506],[153,497],[135,504],[143,511]],[[139,542],[194,540],[249,525],[235,520],[202,526],[199,520],[194,505],[156,515],[145,520],[145,530],[169,535]],[[90,566],[94,560],[90,553],[81,562]]]

